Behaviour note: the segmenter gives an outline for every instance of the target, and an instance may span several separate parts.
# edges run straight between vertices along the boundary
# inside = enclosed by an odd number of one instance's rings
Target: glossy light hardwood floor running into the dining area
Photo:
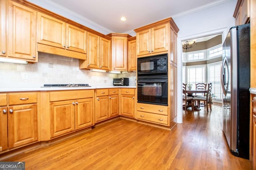
[[[183,111],[183,123],[173,130],[115,119],[5,161],[25,161],[26,170],[250,170],[251,161],[228,150],[221,109]]]

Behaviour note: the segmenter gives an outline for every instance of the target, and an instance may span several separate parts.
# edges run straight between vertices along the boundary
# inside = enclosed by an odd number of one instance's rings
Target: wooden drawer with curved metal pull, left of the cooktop
[[[10,93],[9,105],[37,103],[37,93]]]

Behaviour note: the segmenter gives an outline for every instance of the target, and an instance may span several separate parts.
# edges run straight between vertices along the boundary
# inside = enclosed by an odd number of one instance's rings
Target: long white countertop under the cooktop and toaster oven
[[[109,88],[136,88],[136,86],[0,88],[0,92],[14,92],[14,91],[56,91],[56,90],[83,90],[83,89],[109,89]]]

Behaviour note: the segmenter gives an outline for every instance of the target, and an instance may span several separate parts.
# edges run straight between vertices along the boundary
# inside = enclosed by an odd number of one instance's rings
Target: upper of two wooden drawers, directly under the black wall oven
[[[168,106],[137,103],[137,111],[168,115]]]

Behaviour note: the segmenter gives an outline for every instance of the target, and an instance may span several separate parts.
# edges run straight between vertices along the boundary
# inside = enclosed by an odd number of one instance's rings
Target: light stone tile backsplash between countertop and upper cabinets
[[[38,52],[38,63],[0,62],[0,88],[41,87],[44,84],[86,83],[112,86],[114,77],[129,77],[135,85],[135,72],[114,74],[79,69],[79,59]]]

